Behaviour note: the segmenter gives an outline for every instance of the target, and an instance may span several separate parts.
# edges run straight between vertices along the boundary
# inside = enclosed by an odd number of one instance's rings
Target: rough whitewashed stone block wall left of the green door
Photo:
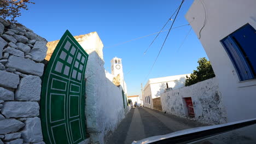
[[[43,144],[39,100],[47,41],[0,17],[0,144]]]

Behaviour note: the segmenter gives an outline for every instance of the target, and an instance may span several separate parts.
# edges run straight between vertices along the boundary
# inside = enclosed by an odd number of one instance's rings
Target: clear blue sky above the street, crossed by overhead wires
[[[22,16],[17,19],[18,22],[31,28],[48,41],[60,39],[66,29],[73,35],[96,31],[104,44],[106,70],[110,71],[110,60],[113,57],[123,59],[124,77],[129,95],[140,94],[141,83],[145,85],[150,78],[189,74],[196,69],[197,60],[200,57],[207,57],[193,30],[178,51],[190,26],[173,29],[152,72],[144,81],[167,32],[160,34],[146,55],[143,53],[155,35],[109,47],[160,31],[181,0],[34,2],[36,4],[29,5],[29,10],[22,11]],[[192,3],[193,0],[184,2],[173,27],[188,23],[184,16]],[[170,26],[171,22],[165,29]],[[129,74],[127,74],[128,71],[130,71]]]

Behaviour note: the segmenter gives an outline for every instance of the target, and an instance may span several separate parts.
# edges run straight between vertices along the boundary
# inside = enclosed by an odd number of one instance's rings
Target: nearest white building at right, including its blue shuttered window
[[[256,117],[256,1],[195,0],[185,15],[216,74],[228,122]]]

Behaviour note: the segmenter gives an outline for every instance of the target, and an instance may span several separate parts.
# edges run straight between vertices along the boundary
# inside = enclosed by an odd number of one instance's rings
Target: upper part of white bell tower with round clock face
[[[120,74],[120,77],[124,79],[122,59],[114,57],[110,62],[111,62],[111,74],[114,76],[117,76],[118,74]]]

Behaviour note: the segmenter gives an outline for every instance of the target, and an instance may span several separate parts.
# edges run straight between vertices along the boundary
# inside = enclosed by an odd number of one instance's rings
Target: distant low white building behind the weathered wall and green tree
[[[149,79],[142,92],[144,106],[153,109],[152,99],[160,97],[160,94],[163,93],[166,88],[177,89],[184,87],[186,75],[189,76],[190,74]]]

